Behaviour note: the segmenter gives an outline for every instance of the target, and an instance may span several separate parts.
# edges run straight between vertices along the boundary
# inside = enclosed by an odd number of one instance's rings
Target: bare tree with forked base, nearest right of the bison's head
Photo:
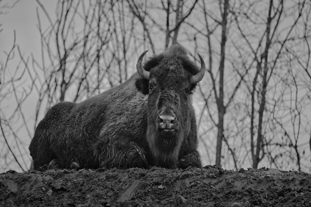
[[[231,107],[232,101],[234,100],[234,96],[239,90],[240,84],[244,78],[244,76],[249,71],[249,68],[236,69],[234,68],[234,63],[231,62],[230,58],[227,57],[227,41],[228,41],[228,34],[230,29],[231,22],[230,14],[230,1],[225,0],[223,2],[219,2],[219,12],[215,13],[215,9],[211,11],[209,9],[209,3],[206,1],[202,1],[201,4],[201,12],[203,13],[204,22],[202,22],[203,28],[198,26],[193,26],[194,24],[188,23],[192,28],[195,29],[196,34],[194,40],[196,41],[196,45],[202,45],[200,42],[202,41],[201,38],[197,38],[199,36],[203,36],[204,40],[207,42],[207,49],[208,49],[208,57],[209,57],[209,68],[208,72],[211,79],[211,85],[205,86],[205,90],[201,91],[202,96],[206,102],[206,107],[208,108],[208,114],[210,120],[214,123],[215,127],[217,128],[217,141],[216,141],[216,165],[221,165],[221,158],[222,158],[222,143],[225,141],[231,156],[233,158],[233,163],[235,168],[237,166],[237,160],[235,157],[235,152],[231,148],[227,136],[225,135],[225,116],[227,110]],[[213,7],[214,8],[214,7]],[[218,38],[220,37],[220,38]],[[218,41],[218,46],[214,43],[215,40]],[[219,51],[213,50],[213,48],[219,48]],[[200,47],[196,47],[196,50],[202,50]],[[219,62],[216,64],[215,59]],[[232,65],[229,67],[228,65]],[[217,66],[218,65],[218,66]],[[216,69],[217,68],[217,69]],[[228,69],[232,68],[232,69]],[[239,74],[239,78],[232,81],[228,81],[228,78],[232,78],[232,76],[227,76],[226,72],[231,73],[232,71],[237,72]],[[236,74],[236,75],[237,75]],[[217,80],[218,79],[218,80]],[[230,85],[228,84],[230,82]],[[228,90],[228,88],[232,90]],[[202,88],[202,85],[200,86]],[[211,88],[209,90],[208,88]],[[208,95],[205,95],[208,94]],[[215,119],[215,114],[212,113],[210,110],[213,103],[211,103],[211,98],[214,97],[216,109],[217,109],[217,119]],[[210,106],[210,107],[209,107]]]

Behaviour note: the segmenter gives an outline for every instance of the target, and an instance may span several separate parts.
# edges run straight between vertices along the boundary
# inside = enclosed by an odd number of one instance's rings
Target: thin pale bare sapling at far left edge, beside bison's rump
[[[3,142],[0,157],[4,157],[4,163],[1,163],[2,169],[8,165],[16,164],[21,171],[29,168],[28,151],[22,138],[18,136],[21,127],[24,127],[27,136],[31,136],[28,119],[23,113],[23,105],[30,96],[34,84],[29,87],[21,87],[25,81],[25,76],[31,75],[25,66],[19,64],[15,69],[10,70],[10,61],[16,59],[15,54],[19,50],[16,45],[16,35],[14,31],[14,41],[8,53],[5,53],[4,63],[0,63],[0,132]],[[12,97],[13,96],[13,97]],[[13,99],[14,104],[7,100]],[[9,107],[9,108],[8,108]],[[12,123],[15,123],[13,125]],[[2,139],[3,138],[3,139]]]

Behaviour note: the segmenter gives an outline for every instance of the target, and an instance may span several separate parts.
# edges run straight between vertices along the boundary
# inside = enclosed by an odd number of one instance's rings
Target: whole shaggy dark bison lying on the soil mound
[[[81,103],[61,102],[38,124],[33,168],[201,167],[192,91],[203,78],[186,50],[173,45],[126,82]],[[78,163],[78,164],[77,164]]]

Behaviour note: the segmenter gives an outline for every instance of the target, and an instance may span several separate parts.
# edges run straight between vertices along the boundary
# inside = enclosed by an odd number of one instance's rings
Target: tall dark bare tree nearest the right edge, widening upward
[[[259,24],[259,21],[254,21],[255,18],[260,17],[261,19],[264,19],[263,16],[260,16],[259,14],[256,14],[255,16],[252,16],[249,12],[252,12],[255,10],[256,3],[249,4],[249,6],[243,5],[239,6],[241,10],[233,11],[233,15],[235,18],[235,23],[237,25],[238,31],[240,32],[241,36],[243,37],[243,41],[245,44],[249,47],[250,58],[252,60],[255,60],[255,62],[250,62],[255,64],[255,73],[249,81],[249,85],[247,84],[247,89],[249,91],[250,97],[251,97],[251,106],[250,106],[250,151],[251,151],[251,157],[252,157],[252,166],[254,168],[258,167],[259,162],[266,156],[270,156],[270,160],[275,160],[271,156],[270,146],[274,143],[277,143],[276,138],[268,138],[268,135],[271,134],[273,136],[277,136],[276,133],[273,131],[270,131],[269,128],[267,128],[268,125],[273,125],[273,122],[275,120],[275,116],[271,117],[271,113],[274,114],[276,111],[281,107],[281,105],[275,106],[275,104],[280,104],[280,96],[276,96],[274,90],[280,90],[276,89],[278,87],[277,83],[270,83],[272,80],[278,79],[279,76],[283,76],[282,71],[278,71],[281,67],[284,67],[282,65],[282,61],[284,61],[285,57],[284,54],[287,53],[286,47],[288,44],[291,44],[293,41],[297,41],[300,39],[300,37],[293,36],[293,31],[297,30],[299,28],[299,21],[302,19],[302,14],[307,14],[306,9],[306,1],[301,1],[295,4],[295,6],[285,4],[283,0],[278,1],[276,4],[274,4],[274,1],[269,1],[268,4],[268,11],[266,16],[266,21],[264,22],[265,29],[262,30],[262,33],[258,33],[257,38],[257,45],[253,44],[253,35],[249,33],[249,28],[242,27],[242,21],[240,13],[244,12],[244,19],[247,19],[248,25],[251,24]],[[258,5],[257,5],[258,6]],[[261,7],[265,9],[266,7],[263,5]],[[247,12],[249,11],[249,12]],[[286,19],[286,16],[284,16],[284,12],[295,12],[297,11],[297,15],[294,16],[293,23],[291,25],[287,25],[286,28],[284,28],[284,25],[282,25],[284,19]],[[254,19],[253,19],[254,18]],[[251,23],[249,23],[251,22]],[[243,22],[244,23],[244,22]],[[245,24],[244,24],[245,25]],[[248,31],[247,31],[248,30]],[[255,46],[255,47],[254,47]],[[289,73],[285,73],[286,75],[291,75],[294,82],[294,87],[297,88],[296,77],[293,75],[293,69],[290,69]],[[284,71],[284,70],[283,70]],[[281,73],[280,73],[281,72]],[[284,72],[283,72],[284,73]],[[284,77],[284,76],[283,76]],[[271,84],[276,84],[272,87]],[[290,87],[292,89],[292,87]],[[281,90],[285,91],[288,89],[286,85],[283,85],[281,87]],[[273,101],[275,102],[273,108],[270,108],[270,102],[272,101],[270,98],[267,99],[267,95],[271,95],[271,93],[274,93]],[[283,92],[281,93],[281,97],[284,98],[286,94]],[[297,100],[298,96],[296,96]],[[277,100],[276,100],[277,99]],[[256,108],[259,106],[259,108]],[[289,111],[291,112],[291,109]],[[300,115],[298,115],[298,119]],[[257,121],[256,121],[257,119]],[[292,120],[294,121],[296,118],[292,117]],[[276,121],[279,122],[279,121]],[[294,121],[295,122],[295,121]],[[282,128],[282,124],[278,123],[278,125]],[[284,131],[284,128],[282,129]],[[255,136],[255,132],[257,132],[257,136]],[[287,134],[287,133],[285,133]],[[299,134],[299,133],[298,133]],[[297,136],[297,135],[296,135]],[[257,138],[255,143],[255,137]],[[296,137],[297,138],[297,137]],[[297,140],[297,139],[296,139]],[[273,143],[274,142],[274,143]],[[297,142],[296,142],[297,143]],[[278,144],[280,147],[285,147],[281,143]],[[297,144],[291,144],[297,153],[297,160],[298,160],[298,168],[300,168],[299,164],[299,153],[297,149]],[[274,162],[276,165],[276,163]]]

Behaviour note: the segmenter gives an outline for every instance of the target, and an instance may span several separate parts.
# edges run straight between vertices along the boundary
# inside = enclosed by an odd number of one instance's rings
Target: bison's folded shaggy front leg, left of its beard
[[[100,167],[149,168],[146,151],[134,141],[120,139],[114,142],[99,140],[95,144],[95,156]]]

